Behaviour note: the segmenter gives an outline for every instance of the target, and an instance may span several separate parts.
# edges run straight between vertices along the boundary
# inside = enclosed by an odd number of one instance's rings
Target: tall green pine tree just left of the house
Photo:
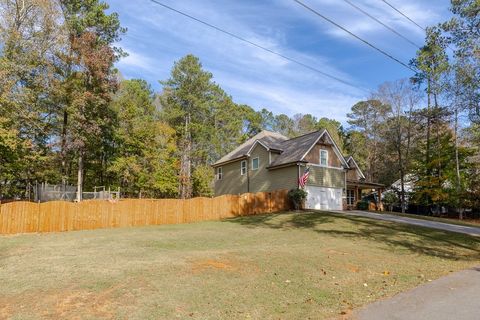
[[[162,118],[176,132],[182,199],[194,194],[192,172],[197,167],[197,186],[211,185],[211,180],[199,183],[200,177],[210,179],[200,168],[262,129],[261,114],[234,104],[212,78],[197,57],[187,55],[174,64],[170,78],[161,81]]]

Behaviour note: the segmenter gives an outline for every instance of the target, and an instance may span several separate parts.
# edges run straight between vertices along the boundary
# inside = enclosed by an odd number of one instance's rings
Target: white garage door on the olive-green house
[[[342,210],[342,189],[307,186],[306,209]]]

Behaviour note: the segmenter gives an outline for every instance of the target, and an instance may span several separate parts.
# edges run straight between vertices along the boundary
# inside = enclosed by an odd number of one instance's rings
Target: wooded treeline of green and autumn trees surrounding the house
[[[347,128],[237,104],[192,55],[159,79],[159,93],[122,80],[114,64],[128,53],[114,43],[126,30],[107,9],[0,0],[0,199],[28,197],[43,181],[119,186],[127,197],[209,196],[210,165],[260,130],[327,128],[368,180],[413,180],[413,193],[400,187],[392,202],[480,206],[478,2],[452,1],[454,18],[428,28],[411,61],[417,73],[352,106]]]

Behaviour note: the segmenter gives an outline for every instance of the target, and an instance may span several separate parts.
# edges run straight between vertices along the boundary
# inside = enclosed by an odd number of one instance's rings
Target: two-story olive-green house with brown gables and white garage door
[[[383,185],[366,182],[353,157],[344,157],[327,130],[289,139],[262,131],[213,164],[215,196],[299,187],[306,168],[306,208],[352,209],[362,190],[381,193]],[[378,197],[381,199],[381,197]]]

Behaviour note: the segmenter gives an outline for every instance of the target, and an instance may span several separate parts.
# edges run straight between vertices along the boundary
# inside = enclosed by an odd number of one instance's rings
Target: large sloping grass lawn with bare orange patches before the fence
[[[480,264],[480,238],[328,213],[0,237],[0,319],[324,319]]]

